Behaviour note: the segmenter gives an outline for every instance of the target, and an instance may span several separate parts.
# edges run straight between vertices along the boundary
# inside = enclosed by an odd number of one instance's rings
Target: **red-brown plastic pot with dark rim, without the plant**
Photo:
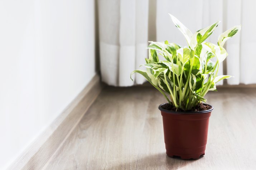
[[[161,104],[164,105],[164,104]],[[164,142],[169,157],[198,159],[204,155],[209,117],[213,107],[198,112],[170,111],[158,107],[163,116]]]

